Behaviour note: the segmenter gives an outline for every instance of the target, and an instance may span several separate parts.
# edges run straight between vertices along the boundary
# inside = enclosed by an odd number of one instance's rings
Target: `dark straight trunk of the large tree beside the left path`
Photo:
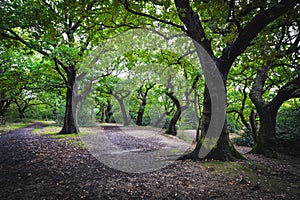
[[[74,101],[74,85],[76,80],[75,66],[70,66],[67,70],[67,95],[66,95],[66,111],[64,118],[64,126],[59,134],[79,133],[77,123],[77,102]]]

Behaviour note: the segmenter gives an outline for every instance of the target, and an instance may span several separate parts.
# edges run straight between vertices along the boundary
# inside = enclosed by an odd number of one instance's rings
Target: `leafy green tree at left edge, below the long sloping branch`
[[[1,51],[0,74],[3,97],[3,115],[9,105],[16,106],[20,118],[25,118],[25,112],[32,106],[48,104],[44,93],[60,90],[62,81],[53,71],[44,70],[49,62],[42,60],[28,49],[11,46]],[[43,96],[43,97],[41,97]],[[6,102],[6,104],[4,104]]]

